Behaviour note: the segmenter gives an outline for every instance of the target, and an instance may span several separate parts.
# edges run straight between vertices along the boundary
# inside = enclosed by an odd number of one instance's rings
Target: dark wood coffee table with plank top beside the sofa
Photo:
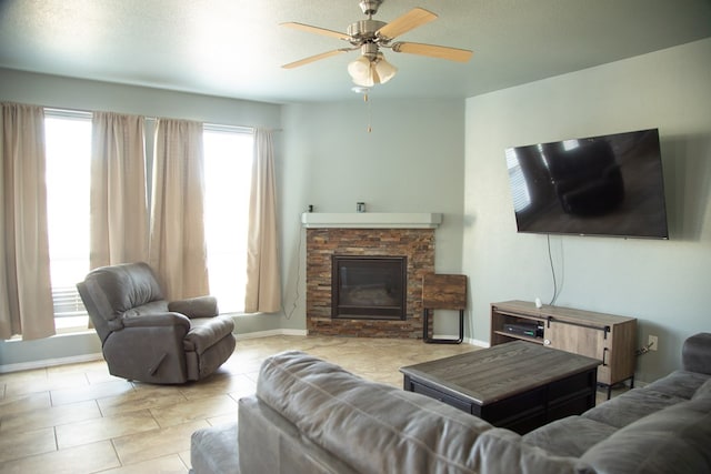
[[[404,390],[528,433],[595,405],[595,359],[515,341],[400,369]]]

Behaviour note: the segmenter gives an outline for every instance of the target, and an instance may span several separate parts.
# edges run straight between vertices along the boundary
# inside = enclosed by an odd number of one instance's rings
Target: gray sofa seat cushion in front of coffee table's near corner
[[[557,456],[580,457],[618,428],[582,416],[568,416],[523,435],[523,441]]]

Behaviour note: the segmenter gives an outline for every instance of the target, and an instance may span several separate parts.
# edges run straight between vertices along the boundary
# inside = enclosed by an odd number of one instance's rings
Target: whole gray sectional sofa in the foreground
[[[196,432],[192,472],[708,473],[711,334],[682,369],[523,436],[301,352],[264,361],[239,423]]]

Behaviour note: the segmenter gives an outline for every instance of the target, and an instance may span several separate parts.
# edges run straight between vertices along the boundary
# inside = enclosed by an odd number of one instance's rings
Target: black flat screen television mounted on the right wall
[[[519,232],[668,239],[657,129],[505,150]]]

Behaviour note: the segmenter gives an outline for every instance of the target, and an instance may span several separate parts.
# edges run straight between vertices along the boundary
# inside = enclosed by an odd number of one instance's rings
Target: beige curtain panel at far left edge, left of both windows
[[[54,334],[54,309],[47,233],[44,111],[3,103],[1,130],[0,337],[48,337]]]

